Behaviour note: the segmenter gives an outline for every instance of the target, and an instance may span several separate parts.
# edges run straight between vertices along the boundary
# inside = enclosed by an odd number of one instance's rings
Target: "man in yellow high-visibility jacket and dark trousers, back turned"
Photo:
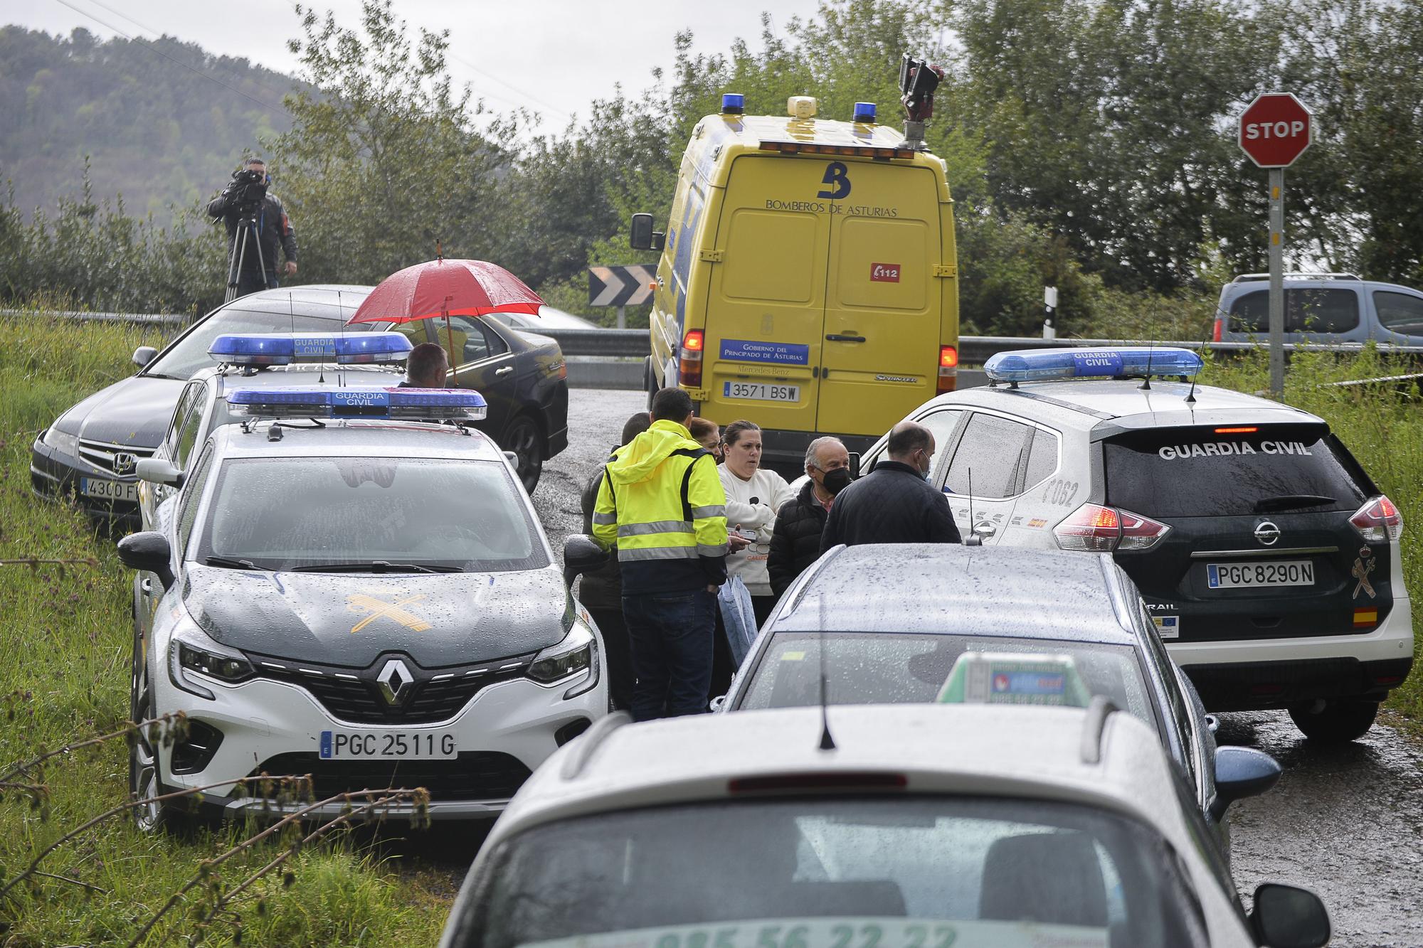
[[[726,491],[690,420],[686,391],[659,391],[652,427],[613,451],[593,507],[593,538],[618,547],[638,720],[699,715],[710,697]]]

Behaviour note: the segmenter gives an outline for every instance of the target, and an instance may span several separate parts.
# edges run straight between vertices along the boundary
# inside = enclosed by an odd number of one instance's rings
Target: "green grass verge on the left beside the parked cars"
[[[30,444],[64,409],[127,376],[135,346],[152,332],[75,325],[44,316],[0,319],[0,559],[94,559],[97,565],[0,565],[0,766],[122,726],[128,716],[132,639],[131,581],[111,537],[73,507],[30,494]],[[48,796],[31,807],[23,794],[0,799],[0,873],[23,870],[33,855],[85,820],[122,803],[128,791],[124,742],[75,752],[43,774]],[[246,834],[242,827],[145,837],[120,817],[67,844],[40,867],[102,891],[40,878],[0,902],[0,945],[127,945],[142,924],[192,877],[203,858]],[[226,864],[233,885],[266,864],[280,843]],[[239,905],[243,945],[433,945],[448,912],[451,873],[404,870],[349,834],[300,853],[293,878],[258,884],[260,897]],[[0,880],[0,887],[3,887]],[[202,887],[194,897],[201,898]],[[192,905],[176,911],[145,944],[194,931]],[[215,925],[203,944],[235,944],[235,925]]]

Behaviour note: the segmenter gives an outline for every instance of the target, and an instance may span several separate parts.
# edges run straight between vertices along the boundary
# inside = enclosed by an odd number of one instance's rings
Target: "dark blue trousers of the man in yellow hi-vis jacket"
[[[659,592],[623,595],[623,619],[632,645],[636,720],[700,715],[712,689],[716,594]]]

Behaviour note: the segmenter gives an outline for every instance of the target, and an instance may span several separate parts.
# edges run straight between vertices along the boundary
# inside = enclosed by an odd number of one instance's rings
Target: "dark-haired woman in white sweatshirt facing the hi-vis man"
[[[726,426],[721,450],[726,460],[719,473],[726,490],[726,527],[753,537],[746,549],[726,558],[726,569],[746,584],[760,625],[776,605],[771,579],[766,572],[776,511],[794,495],[785,478],[761,467],[761,428],[754,423],[733,421]]]

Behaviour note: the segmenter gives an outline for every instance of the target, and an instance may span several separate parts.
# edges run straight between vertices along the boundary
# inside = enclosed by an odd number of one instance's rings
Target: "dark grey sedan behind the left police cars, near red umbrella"
[[[212,340],[223,333],[340,332],[369,292],[369,286],[263,290],[212,310],[162,352],[139,347],[134,352],[137,374],[84,399],[36,438],[34,491],[74,495],[91,515],[137,527],[135,465],[162,441],[188,379],[216,364],[208,354]],[[484,394],[490,413],[478,427],[518,455],[519,477],[532,491],[544,461],[568,446],[568,381],[558,343],[468,316],[453,317],[448,329],[444,320],[397,329],[417,344],[435,340],[438,329],[438,342],[454,353],[451,384]]]

